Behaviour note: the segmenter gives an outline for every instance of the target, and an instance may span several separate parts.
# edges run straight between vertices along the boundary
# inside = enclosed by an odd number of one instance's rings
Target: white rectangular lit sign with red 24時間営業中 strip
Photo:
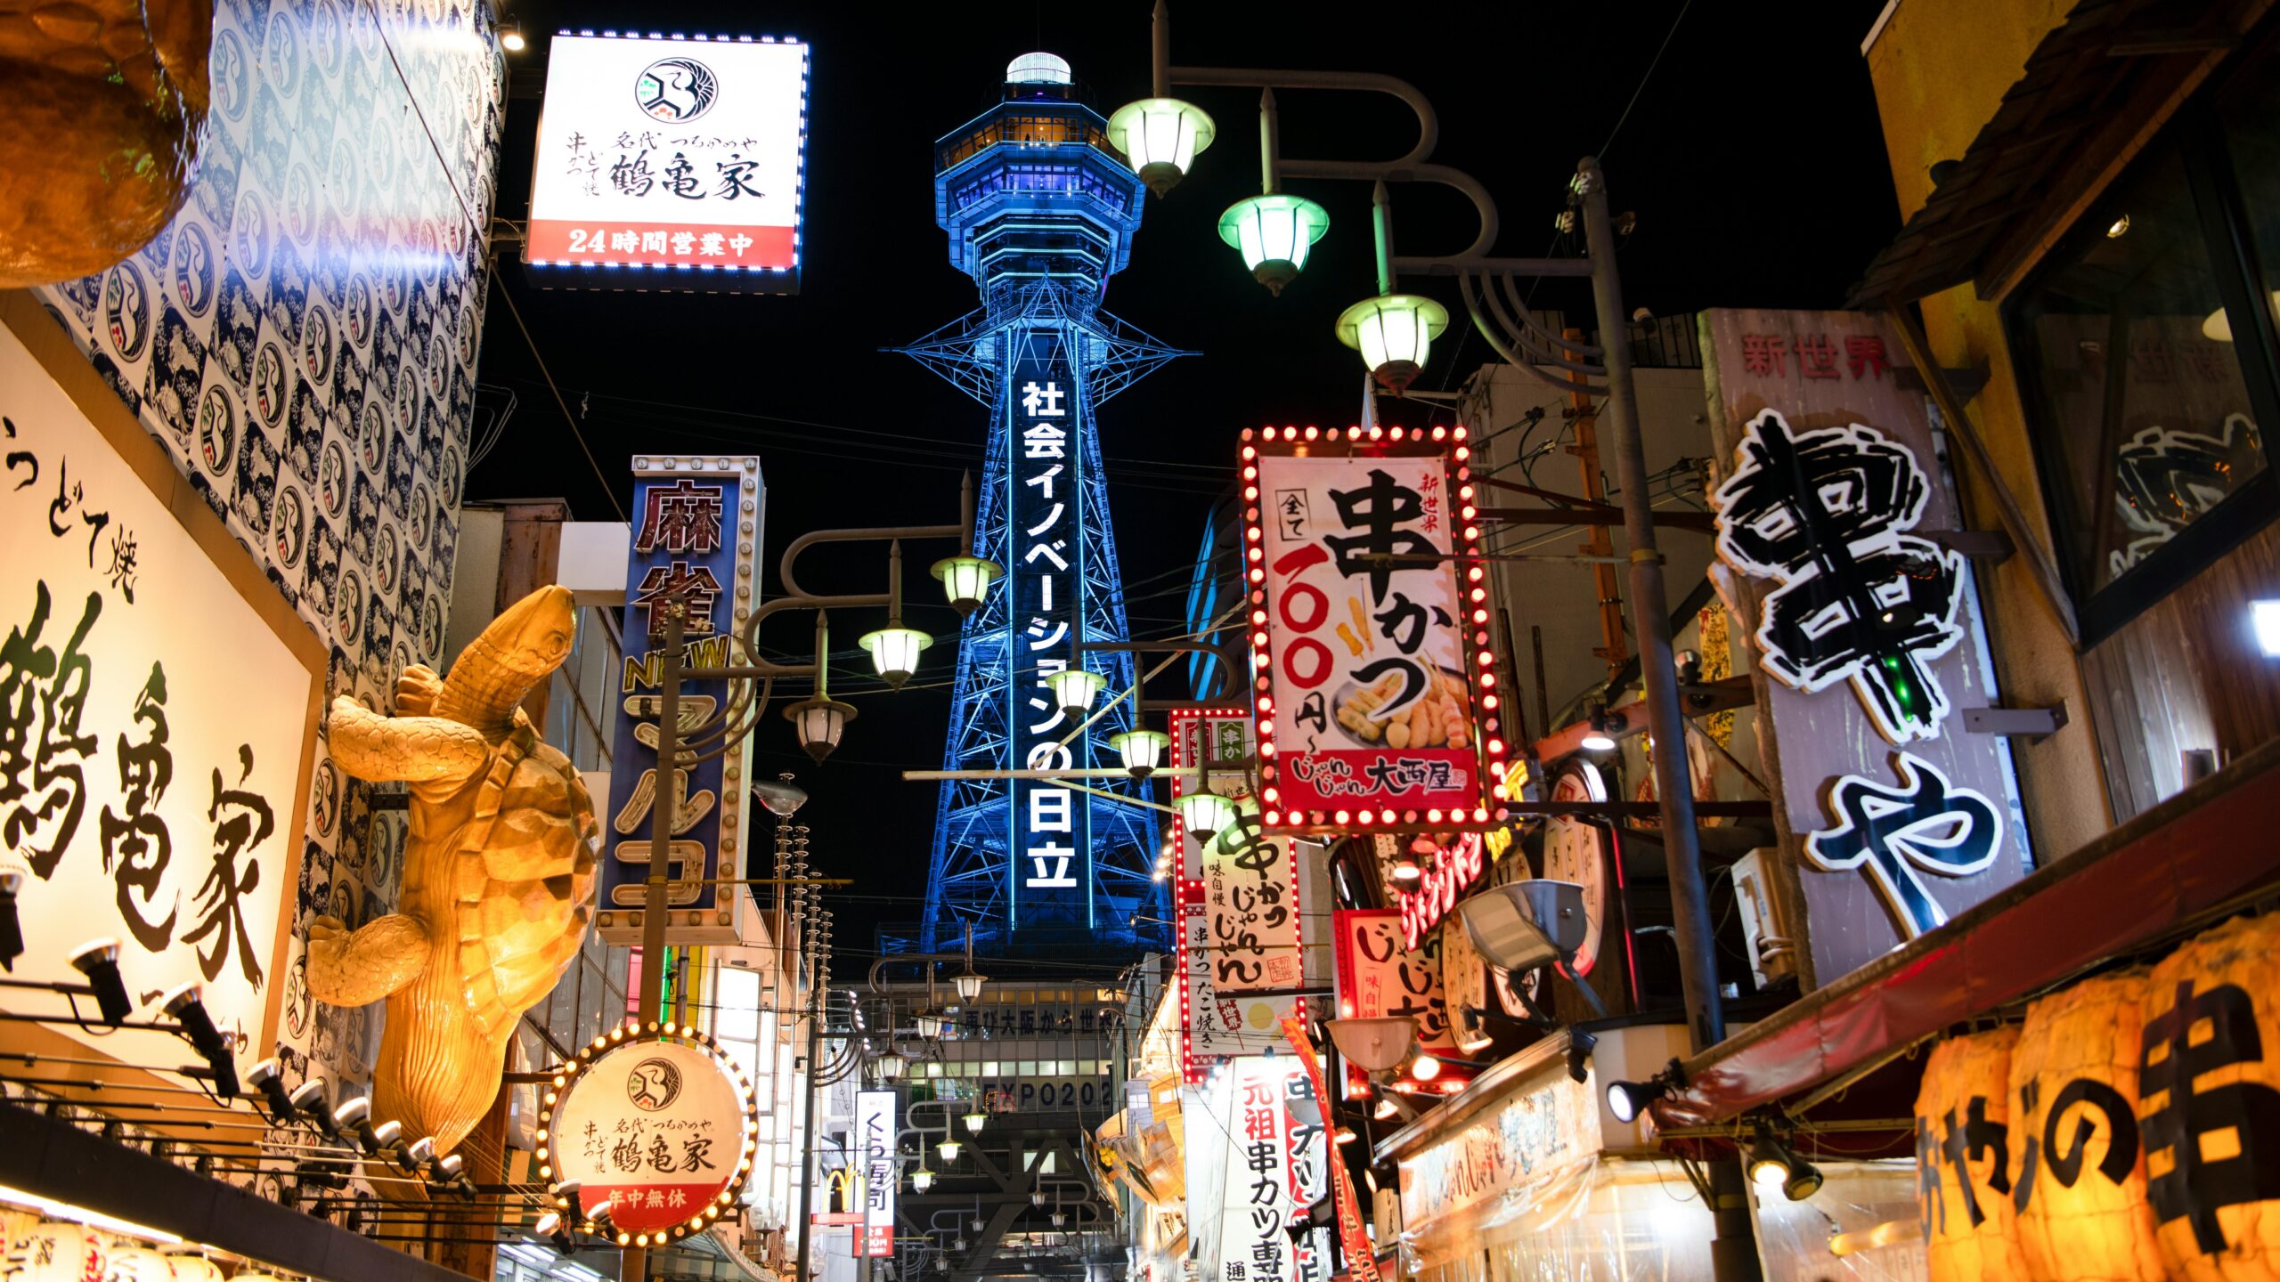
[[[805,151],[805,43],[559,34],[522,255],[796,290]]]

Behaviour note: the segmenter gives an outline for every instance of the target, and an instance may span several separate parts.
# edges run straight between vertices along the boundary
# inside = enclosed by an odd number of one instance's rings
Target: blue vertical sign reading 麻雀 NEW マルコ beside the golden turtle
[[[673,835],[666,867],[666,940],[734,944],[734,887],[746,849],[746,794],[752,746],[677,771],[657,769],[657,721],[663,714],[659,673],[666,607],[686,614],[682,664],[727,666],[730,634],[752,614],[752,573],[762,529],[759,459],[634,459],[632,554],[625,566],[625,668],[611,709],[609,814],[597,931],[611,944],[641,942],[648,894],[652,812],[673,787]],[[682,682],[684,730],[723,712],[730,682]]]

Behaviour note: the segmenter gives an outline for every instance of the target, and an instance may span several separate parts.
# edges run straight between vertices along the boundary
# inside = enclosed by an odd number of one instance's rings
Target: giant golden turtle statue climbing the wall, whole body
[[[602,828],[568,757],[522,696],[577,634],[570,591],[540,589],[467,643],[449,677],[397,682],[397,714],[333,700],[331,746],[363,780],[413,785],[397,912],[347,931],[319,917],[308,988],[333,1006],[388,999],[374,1120],[451,1152],[499,1093],[515,1020],[577,958]]]

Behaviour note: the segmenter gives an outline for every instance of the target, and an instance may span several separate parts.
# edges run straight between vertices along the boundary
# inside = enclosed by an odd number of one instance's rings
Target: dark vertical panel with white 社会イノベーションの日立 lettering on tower
[[[1065,771],[1092,764],[1085,735],[1060,744],[1074,721],[1044,680],[1076,662],[1083,632],[1083,525],[1076,440],[1076,381],[1060,356],[1060,335],[1012,331],[1024,358],[1010,365],[1005,408],[1012,459],[1005,468],[1015,563],[1008,566],[1012,662],[1005,682],[1005,725],[1024,769]],[[1012,780],[1012,926],[1090,926],[1092,887],[1090,808],[1083,794],[1056,780]]]

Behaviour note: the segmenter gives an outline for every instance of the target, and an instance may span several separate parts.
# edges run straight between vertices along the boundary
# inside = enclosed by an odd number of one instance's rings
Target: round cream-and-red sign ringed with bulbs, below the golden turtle
[[[650,1029],[595,1038],[554,1074],[540,1113],[538,1175],[579,1184],[577,1207],[556,1207],[620,1246],[698,1232],[734,1207],[759,1134],[752,1084],[711,1038]]]

